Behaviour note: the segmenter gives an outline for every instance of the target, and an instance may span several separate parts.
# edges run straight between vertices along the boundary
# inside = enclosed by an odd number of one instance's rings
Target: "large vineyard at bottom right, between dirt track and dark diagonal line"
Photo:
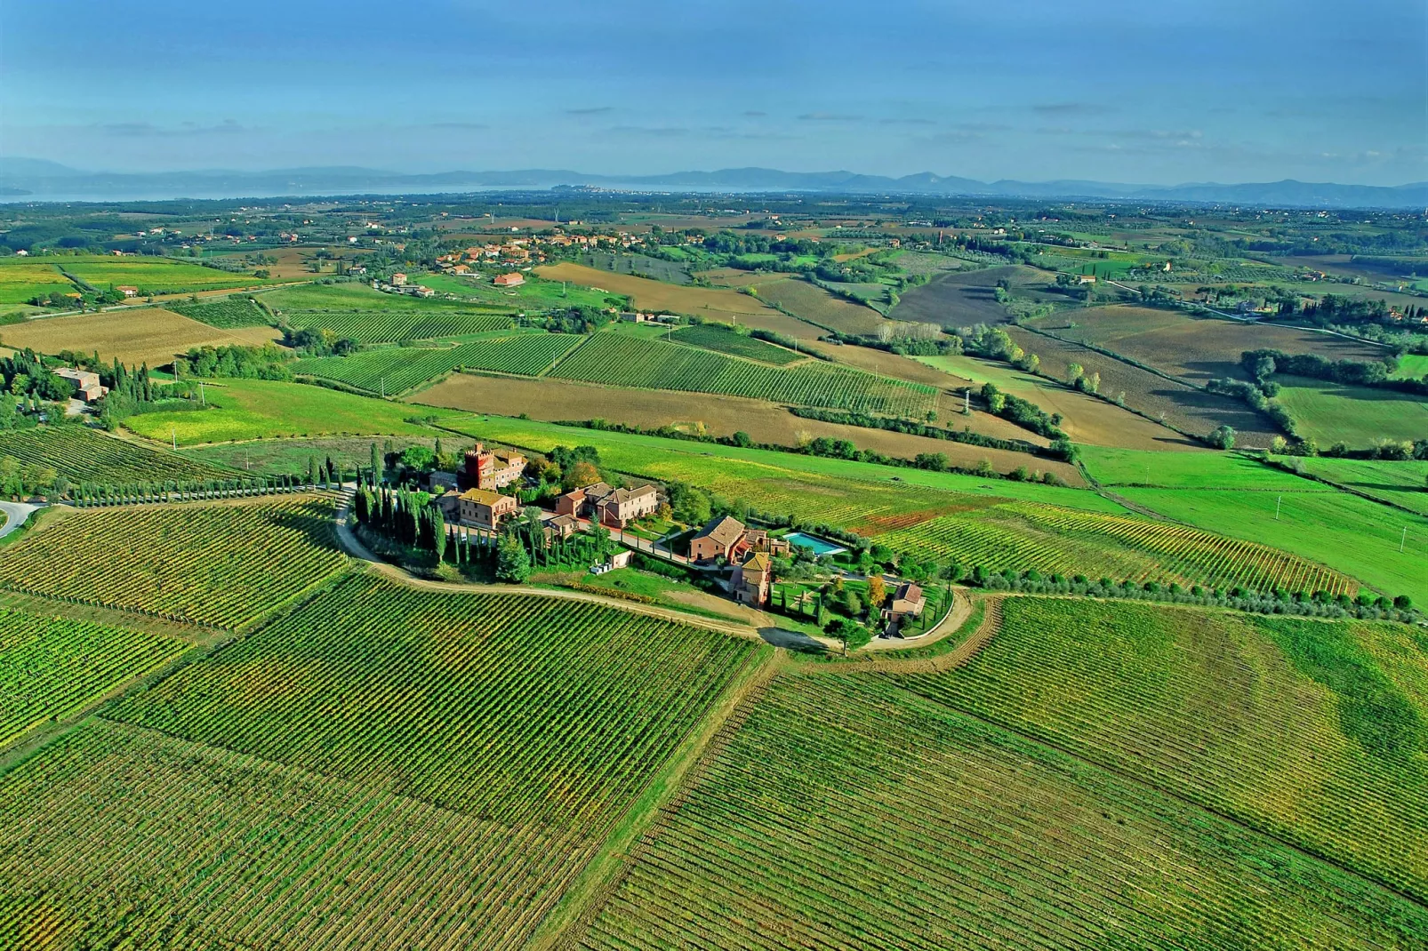
[[[995,644],[995,641],[994,641]],[[1328,862],[887,681],[777,678],[587,912],[584,948],[1422,947]]]

